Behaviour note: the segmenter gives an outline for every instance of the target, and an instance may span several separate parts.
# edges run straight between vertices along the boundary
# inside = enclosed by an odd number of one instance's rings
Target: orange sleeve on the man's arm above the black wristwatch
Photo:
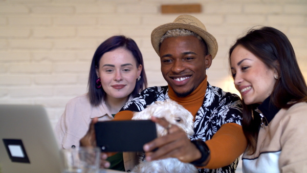
[[[236,123],[226,123],[206,141],[210,149],[210,160],[203,168],[216,169],[230,165],[247,147],[242,126]]]

